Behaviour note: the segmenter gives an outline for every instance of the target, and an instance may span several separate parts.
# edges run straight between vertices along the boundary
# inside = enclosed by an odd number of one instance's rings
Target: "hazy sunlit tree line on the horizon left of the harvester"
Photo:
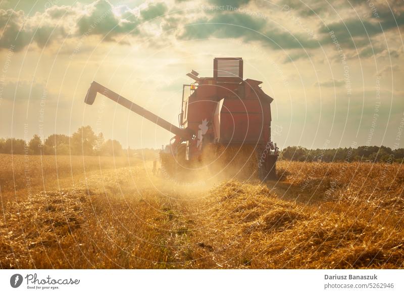
[[[117,140],[105,140],[103,133],[95,134],[90,126],[82,126],[71,136],[52,134],[42,140],[35,134],[28,142],[16,138],[0,138],[0,153],[28,155],[98,155],[155,157],[155,150],[122,148]],[[152,155],[153,154],[153,155]]]

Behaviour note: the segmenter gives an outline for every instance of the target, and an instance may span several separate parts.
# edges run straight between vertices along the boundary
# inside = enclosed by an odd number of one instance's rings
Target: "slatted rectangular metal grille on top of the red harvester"
[[[217,78],[243,78],[242,58],[215,58],[213,76]]]

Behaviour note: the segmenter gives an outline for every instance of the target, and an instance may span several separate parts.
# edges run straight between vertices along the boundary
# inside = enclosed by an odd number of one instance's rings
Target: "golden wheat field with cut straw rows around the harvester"
[[[0,160],[2,268],[404,268],[399,164],[189,184],[124,157]]]

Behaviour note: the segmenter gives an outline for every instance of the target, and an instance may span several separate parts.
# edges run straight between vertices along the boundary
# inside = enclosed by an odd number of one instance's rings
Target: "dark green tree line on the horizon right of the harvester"
[[[293,161],[322,162],[402,162],[404,148],[392,150],[386,146],[358,146],[357,148],[307,149],[288,146],[280,152],[280,159]]]

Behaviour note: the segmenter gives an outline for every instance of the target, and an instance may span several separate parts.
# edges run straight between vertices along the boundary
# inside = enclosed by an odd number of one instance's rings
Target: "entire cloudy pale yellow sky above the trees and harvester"
[[[403,1],[0,0],[0,137],[82,125],[126,148],[173,134],[97,95],[94,80],[178,125],[182,84],[242,57],[274,98],[280,148],[402,148]]]

